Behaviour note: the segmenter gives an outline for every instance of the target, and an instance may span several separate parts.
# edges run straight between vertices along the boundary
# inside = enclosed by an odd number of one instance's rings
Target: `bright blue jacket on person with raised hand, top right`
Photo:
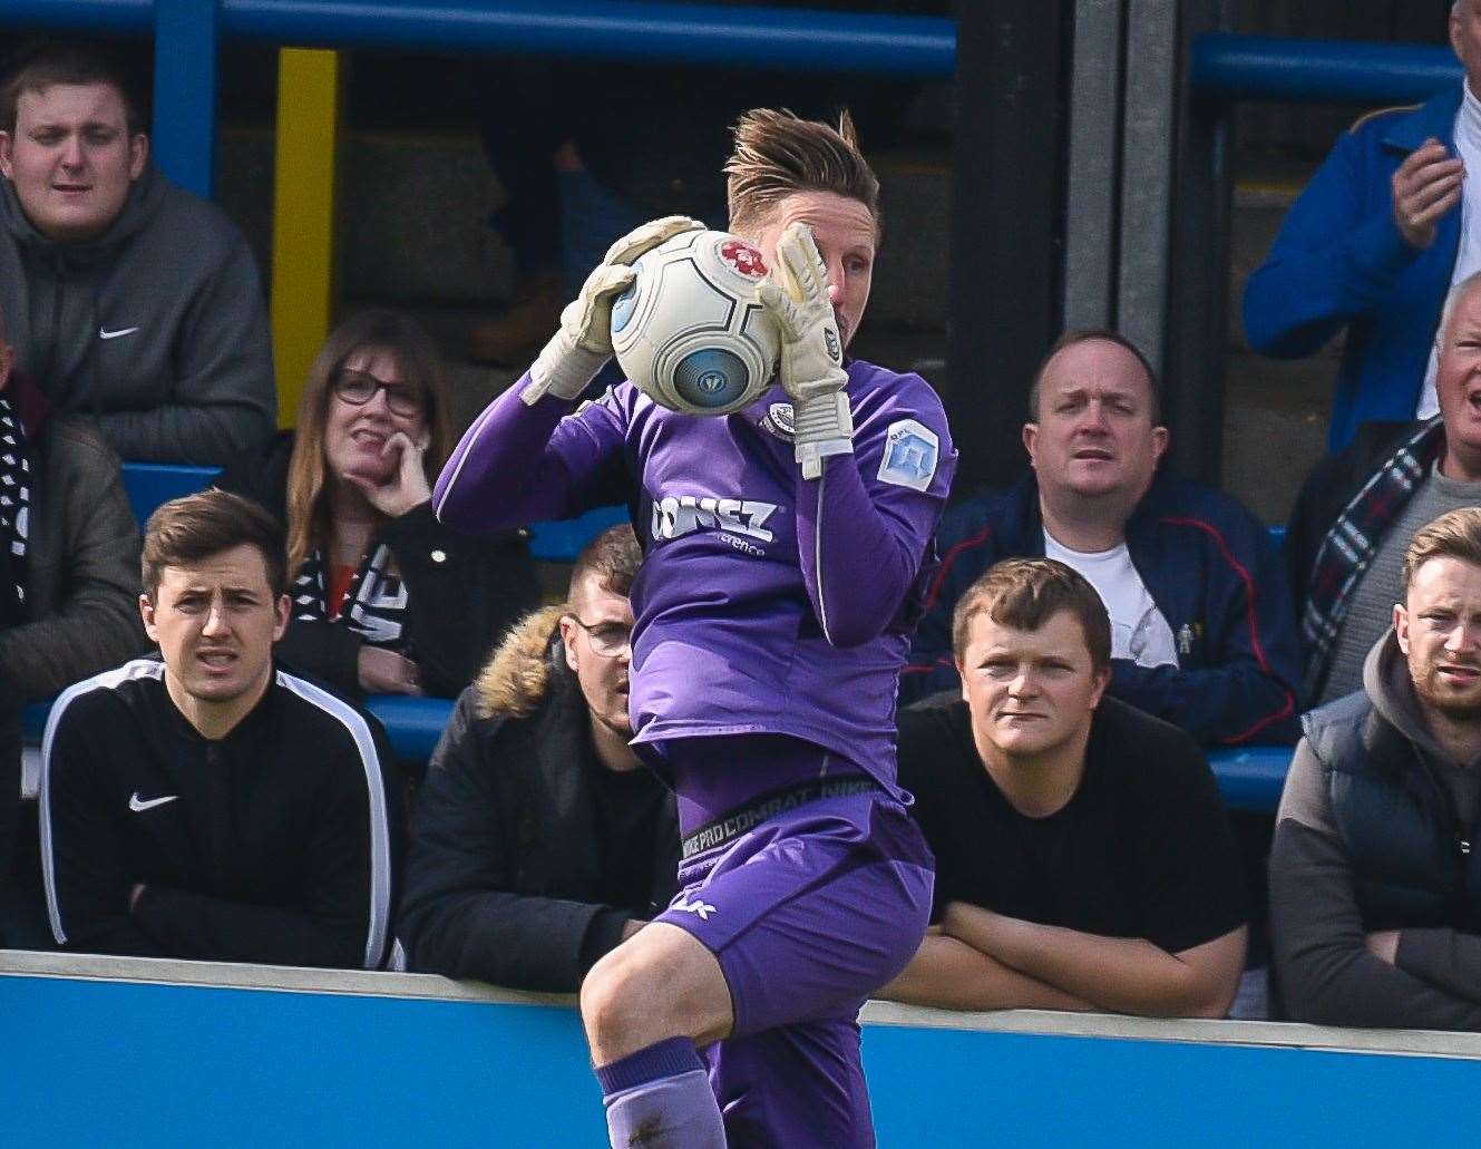
[[[1425,250],[1394,224],[1395,169],[1426,138],[1454,153],[1460,84],[1360,120],[1300,194],[1244,289],[1244,330],[1275,358],[1314,354],[1343,327],[1328,446],[1358,423],[1413,419],[1460,244],[1460,207]]]

